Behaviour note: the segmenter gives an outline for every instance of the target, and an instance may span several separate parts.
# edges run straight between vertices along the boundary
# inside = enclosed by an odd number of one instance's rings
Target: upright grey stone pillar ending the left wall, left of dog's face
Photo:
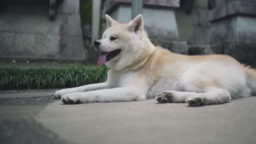
[[[82,37],[80,1],[63,0],[57,15],[60,15],[59,19],[61,20],[58,58],[67,61],[84,61],[87,53]]]

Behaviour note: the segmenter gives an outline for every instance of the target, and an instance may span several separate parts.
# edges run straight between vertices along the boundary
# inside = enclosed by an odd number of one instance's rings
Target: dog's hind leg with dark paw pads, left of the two
[[[196,92],[164,91],[156,96],[156,100],[159,103],[185,103],[187,98],[196,94]]]

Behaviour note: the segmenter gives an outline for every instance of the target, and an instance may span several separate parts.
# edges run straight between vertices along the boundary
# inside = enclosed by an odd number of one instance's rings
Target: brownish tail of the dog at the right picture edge
[[[247,83],[252,90],[252,95],[256,95],[256,69],[246,67]]]

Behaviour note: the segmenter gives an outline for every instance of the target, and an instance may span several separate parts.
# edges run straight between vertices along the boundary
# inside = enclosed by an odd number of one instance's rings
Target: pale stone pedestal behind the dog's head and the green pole
[[[164,46],[174,52],[187,54],[187,43],[179,43],[179,33],[174,8],[179,0],[143,1],[144,28],[155,45]],[[131,20],[131,0],[106,0],[105,13],[120,23]]]

